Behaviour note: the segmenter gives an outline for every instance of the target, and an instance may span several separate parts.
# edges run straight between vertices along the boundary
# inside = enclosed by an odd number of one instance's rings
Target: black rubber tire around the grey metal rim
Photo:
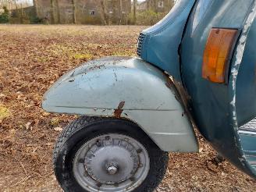
[[[169,155],[142,131],[136,124],[123,119],[101,119],[81,116],[66,126],[59,136],[54,149],[53,163],[55,176],[66,192],[83,192],[83,187],[73,175],[73,158],[78,149],[94,137],[106,133],[122,133],[138,140],[148,151],[150,169],[148,176],[134,192],[151,192],[161,183],[168,164]]]

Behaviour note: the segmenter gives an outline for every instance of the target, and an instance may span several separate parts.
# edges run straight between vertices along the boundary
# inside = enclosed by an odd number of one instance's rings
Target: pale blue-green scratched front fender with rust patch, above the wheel
[[[197,152],[185,109],[162,71],[137,58],[108,57],[66,73],[44,94],[47,112],[130,119],[163,151]]]

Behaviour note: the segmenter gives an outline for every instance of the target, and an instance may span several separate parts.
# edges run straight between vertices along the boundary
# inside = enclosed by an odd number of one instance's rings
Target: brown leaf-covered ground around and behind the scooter
[[[44,91],[80,62],[104,55],[135,55],[144,27],[0,26],[0,191],[61,191],[52,148],[74,117],[41,109]],[[157,191],[255,191],[256,181],[201,138],[200,154],[170,154]]]

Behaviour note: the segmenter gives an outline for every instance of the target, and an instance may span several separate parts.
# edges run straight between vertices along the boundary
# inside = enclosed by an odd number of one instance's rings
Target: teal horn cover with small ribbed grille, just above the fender
[[[180,0],[165,18],[155,26],[142,31],[138,55],[146,62],[163,69],[176,80],[180,77],[179,46],[187,17],[194,0]]]

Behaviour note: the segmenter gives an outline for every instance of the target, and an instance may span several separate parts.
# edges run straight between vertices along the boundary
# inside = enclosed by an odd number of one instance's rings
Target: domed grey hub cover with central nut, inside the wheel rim
[[[139,166],[136,148],[128,140],[97,140],[85,155],[87,173],[99,183],[120,183],[133,176]],[[107,171],[105,171],[107,170]]]

